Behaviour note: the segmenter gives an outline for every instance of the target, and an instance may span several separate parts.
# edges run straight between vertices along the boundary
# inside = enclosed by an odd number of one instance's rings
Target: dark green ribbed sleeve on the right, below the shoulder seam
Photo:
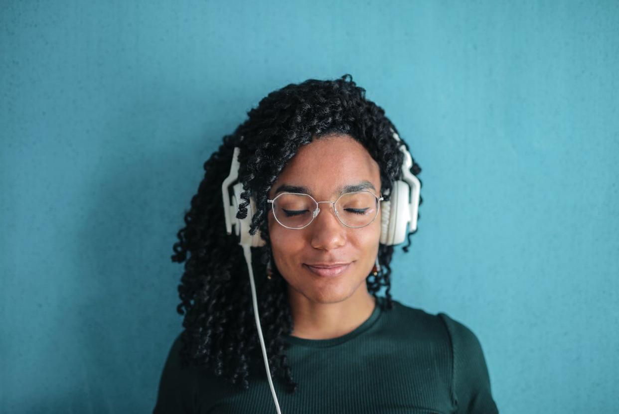
[[[458,414],[498,413],[492,398],[488,367],[483,356],[482,345],[475,334],[448,315],[443,319],[452,348],[452,389]]]

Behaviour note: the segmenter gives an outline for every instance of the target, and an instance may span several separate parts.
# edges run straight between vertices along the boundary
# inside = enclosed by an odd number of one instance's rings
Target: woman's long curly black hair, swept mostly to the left
[[[204,178],[173,247],[172,260],[184,262],[178,286],[181,303],[177,306],[178,313],[184,314],[183,366],[204,366],[242,389],[248,389],[250,373],[264,369],[260,368],[262,354],[243,251],[238,238],[225,230],[220,198],[213,198],[220,194],[223,179],[230,172],[234,148],[240,147],[239,180],[244,189],[237,217],[246,217],[249,197],[253,197],[257,210],[250,233],[260,230],[266,241],[266,246],[252,251],[254,274],[266,275],[267,263],[272,260],[267,193],[301,145],[330,134],[353,137],[378,163],[381,192],[387,200],[392,182],[401,178],[399,145],[406,145],[404,140],[397,142],[391,131],[397,129],[384,110],[365,98],[365,89],[350,75],[344,75],[335,80],[309,79],[269,93],[233,134],[223,137],[219,150],[204,163]],[[410,171],[414,175],[421,172],[414,160]],[[404,251],[408,251],[411,235]],[[379,244],[383,272],[366,278],[373,296],[386,287],[387,309],[392,307],[389,264],[393,251],[393,246]],[[285,335],[293,328],[287,282],[273,266],[271,280],[256,277],[256,291],[271,375],[285,381],[288,392],[294,392],[297,383],[284,352],[290,346]]]

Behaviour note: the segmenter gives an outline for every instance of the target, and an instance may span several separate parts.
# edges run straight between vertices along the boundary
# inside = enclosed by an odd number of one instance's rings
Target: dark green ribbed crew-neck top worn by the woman
[[[335,339],[287,337],[298,383],[274,380],[282,414],[498,413],[477,337],[443,313],[378,297],[371,316]],[[236,389],[199,368],[180,368],[176,339],[163,369],[155,414],[276,413],[264,364]]]

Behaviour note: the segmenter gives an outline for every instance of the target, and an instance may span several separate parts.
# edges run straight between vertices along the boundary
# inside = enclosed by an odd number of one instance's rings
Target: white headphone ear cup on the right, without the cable
[[[410,187],[404,181],[395,181],[391,188],[391,197],[387,211],[383,207],[381,218],[381,243],[387,246],[400,244],[406,239],[406,226],[410,222]],[[384,219],[387,218],[387,222]]]

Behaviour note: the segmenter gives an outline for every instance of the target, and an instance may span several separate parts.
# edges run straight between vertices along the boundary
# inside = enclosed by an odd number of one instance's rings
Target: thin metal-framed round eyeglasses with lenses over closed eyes
[[[320,212],[320,203],[333,205],[335,216],[340,223],[351,228],[360,228],[374,221],[380,209],[377,197],[370,191],[345,192],[335,201],[316,201],[309,194],[282,192],[272,200],[273,216],[280,225],[293,230],[309,226]]]

